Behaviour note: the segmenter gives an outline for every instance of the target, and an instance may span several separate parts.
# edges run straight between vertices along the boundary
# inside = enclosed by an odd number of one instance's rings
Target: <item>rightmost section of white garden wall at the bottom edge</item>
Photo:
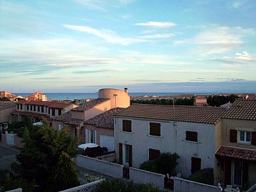
[[[222,188],[218,186],[210,186],[207,184],[201,184],[195,181],[188,181],[186,179],[180,179],[174,177],[174,192],[222,192]]]

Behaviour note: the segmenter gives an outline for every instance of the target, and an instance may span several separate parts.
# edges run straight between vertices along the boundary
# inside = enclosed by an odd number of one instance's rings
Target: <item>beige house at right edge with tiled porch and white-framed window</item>
[[[256,183],[256,100],[238,99],[222,118],[215,177],[222,184]]]

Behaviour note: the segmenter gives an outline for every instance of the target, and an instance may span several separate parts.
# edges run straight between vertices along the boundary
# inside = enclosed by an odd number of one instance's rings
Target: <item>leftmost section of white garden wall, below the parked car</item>
[[[101,174],[107,174],[111,177],[122,178],[122,168],[124,165],[97,160],[95,158],[89,158],[83,155],[77,155],[76,162],[77,166],[79,167],[84,167],[85,169],[90,169]]]

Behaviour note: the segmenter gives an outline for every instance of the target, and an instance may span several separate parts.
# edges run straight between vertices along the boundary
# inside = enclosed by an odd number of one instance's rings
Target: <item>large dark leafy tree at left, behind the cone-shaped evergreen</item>
[[[58,164],[60,154],[65,152],[70,158],[75,157],[78,139],[65,130],[57,131],[44,119],[42,126],[23,130],[24,147],[17,160],[20,162],[20,174],[28,181],[35,180],[36,191],[45,191],[47,181]]]

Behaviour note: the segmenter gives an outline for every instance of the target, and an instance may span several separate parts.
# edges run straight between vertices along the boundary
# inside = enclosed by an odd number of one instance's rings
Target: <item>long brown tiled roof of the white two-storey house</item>
[[[117,113],[117,116],[215,124],[224,113],[226,113],[226,109],[217,107],[177,105],[173,108],[172,105],[134,103],[122,112]]]

